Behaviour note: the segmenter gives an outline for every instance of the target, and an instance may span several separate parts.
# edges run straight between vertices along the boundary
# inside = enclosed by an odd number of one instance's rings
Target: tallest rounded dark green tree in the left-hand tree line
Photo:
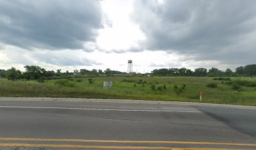
[[[43,78],[43,76],[46,76],[47,71],[40,66],[24,66],[26,68],[26,71],[23,73],[23,76],[25,79],[40,79]]]

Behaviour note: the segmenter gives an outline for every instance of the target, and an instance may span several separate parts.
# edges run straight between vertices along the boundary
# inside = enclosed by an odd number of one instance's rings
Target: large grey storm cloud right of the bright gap
[[[255,63],[256,1],[135,1],[132,19],[148,50]]]

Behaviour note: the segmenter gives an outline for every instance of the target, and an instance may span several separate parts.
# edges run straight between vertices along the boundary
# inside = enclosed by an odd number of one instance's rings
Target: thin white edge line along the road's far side
[[[146,112],[178,112],[178,113],[201,113],[201,111],[175,111],[175,110],[144,110],[144,109],[98,109],[98,108],[50,108],[50,107],[32,107],[32,106],[0,106],[0,108],[32,108],[32,109],[75,109],[75,110],[93,110],[93,111],[146,111]]]

